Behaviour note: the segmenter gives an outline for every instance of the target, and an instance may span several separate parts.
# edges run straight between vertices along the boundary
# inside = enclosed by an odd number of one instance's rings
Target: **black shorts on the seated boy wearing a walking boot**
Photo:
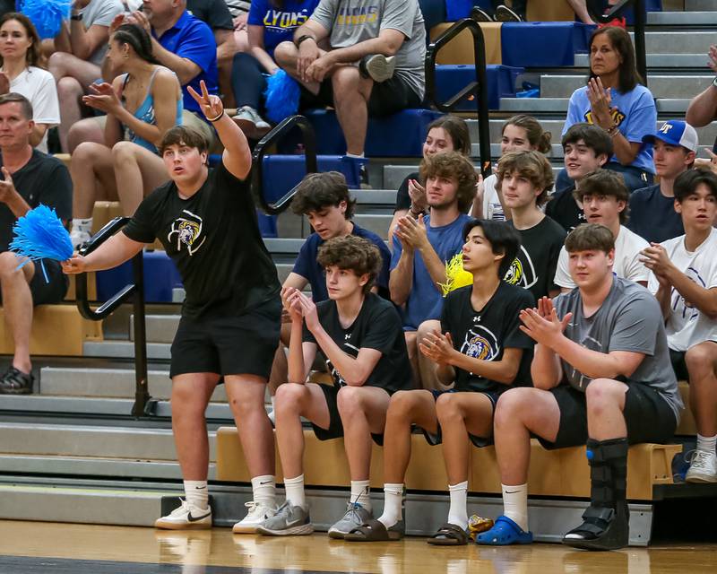
[[[588,412],[585,394],[571,387],[560,385],[549,390],[555,396],[560,409],[560,426],[555,442],[536,437],[544,448],[578,447],[588,440]],[[627,383],[625,396],[625,422],[627,441],[669,442],[675,434],[677,420],[668,402],[660,393],[643,383]]]

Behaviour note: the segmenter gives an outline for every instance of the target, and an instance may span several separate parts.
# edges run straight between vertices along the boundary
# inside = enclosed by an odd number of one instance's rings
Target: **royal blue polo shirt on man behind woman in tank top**
[[[199,104],[186,88],[192,86],[195,91],[202,93],[199,83],[203,80],[209,93],[217,93],[217,43],[214,41],[212,29],[185,10],[177,23],[164,32],[161,38],[157,38],[154,30],[151,30],[151,34],[160,42],[162,48],[177,54],[178,57],[186,57],[202,69],[189,83],[182,86],[182,94],[185,109],[204,117]]]

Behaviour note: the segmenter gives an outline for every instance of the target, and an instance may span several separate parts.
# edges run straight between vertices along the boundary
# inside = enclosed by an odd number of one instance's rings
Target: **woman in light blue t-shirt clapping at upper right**
[[[652,93],[641,82],[626,30],[616,26],[595,30],[590,39],[588,85],[570,97],[563,127],[563,135],[579,122],[605,130],[614,149],[605,168],[621,173],[630,191],[652,185],[655,171],[652,143],[644,143],[644,136],[654,134],[657,109]],[[566,187],[570,182],[563,171],[556,189]]]

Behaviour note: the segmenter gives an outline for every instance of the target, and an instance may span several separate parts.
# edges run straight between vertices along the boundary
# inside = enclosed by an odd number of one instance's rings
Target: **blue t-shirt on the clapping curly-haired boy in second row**
[[[431,247],[434,248],[438,257],[447,263],[456,254],[461,253],[465,238],[463,237],[463,226],[471,218],[461,213],[458,218],[443,227],[431,227],[430,216],[424,216],[426,232]],[[391,269],[398,265],[402,254],[401,241],[393,236],[393,257],[391,258]],[[436,289],[435,283],[428,273],[428,268],[423,263],[423,257],[419,253],[413,254],[413,278],[410,286],[409,299],[403,313],[403,330],[415,331],[419,325],[427,319],[440,319],[443,311],[443,295]]]

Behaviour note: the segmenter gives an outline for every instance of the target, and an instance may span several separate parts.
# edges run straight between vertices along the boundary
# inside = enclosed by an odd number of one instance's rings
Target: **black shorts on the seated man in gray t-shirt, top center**
[[[394,75],[393,78],[381,83],[374,83],[371,97],[368,99],[368,116],[390,116],[402,109],[419,108],[422,104],[419,95],[410,89],[406,81]],[[333,83],[328,77],[321,83],[318,94],[314,95],[303,86],[301,87],[301,109],[335,108],[333,103]]]

